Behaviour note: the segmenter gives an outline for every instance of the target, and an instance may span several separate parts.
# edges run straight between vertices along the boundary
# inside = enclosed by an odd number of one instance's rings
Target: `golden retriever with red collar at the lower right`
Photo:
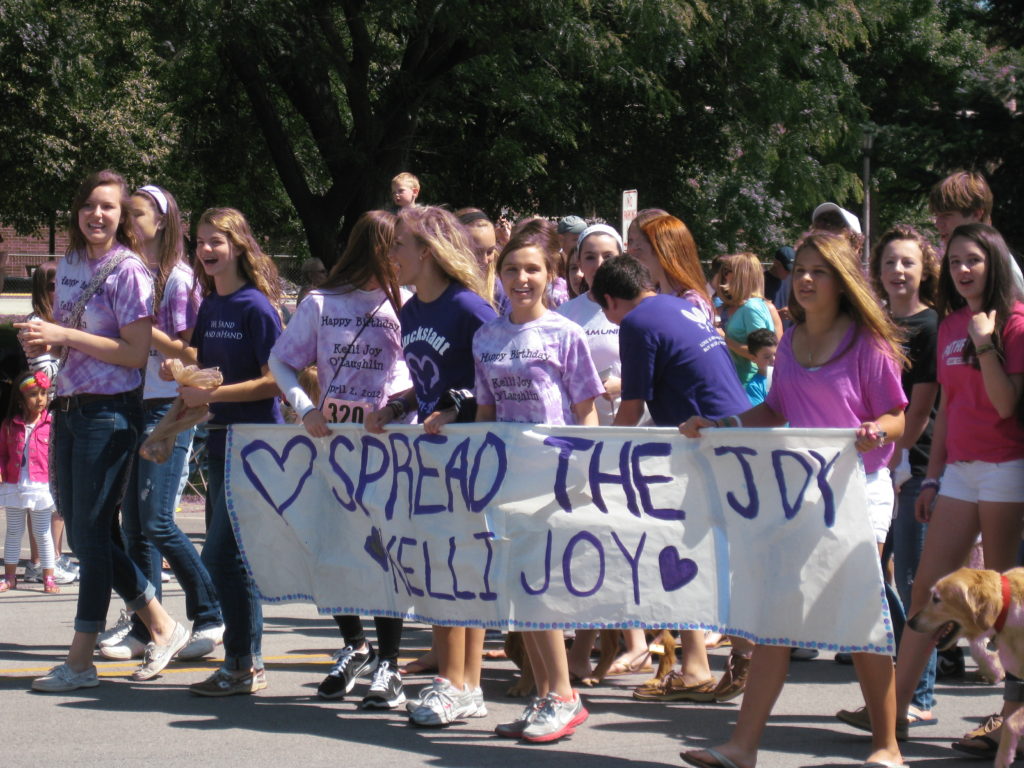
[[[1001,676],[1001,667],[1024,678],[1024,568],[1006,573],[961,568],[938,581],[931,602],[907,624],[915,632],[931,634],[939,650],[951,648],[963,636],[971,653],[990,679]],[[995,644],[996,653],[986,647]],[[1017,754],[1024,728],[1024,709],[1004,722],[996,768],[1009,768]]]

